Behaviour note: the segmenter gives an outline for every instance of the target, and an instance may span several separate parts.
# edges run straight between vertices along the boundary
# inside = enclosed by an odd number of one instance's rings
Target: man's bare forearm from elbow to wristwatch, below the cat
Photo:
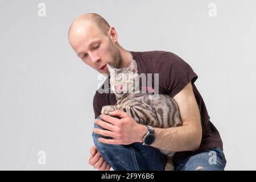
[[[146,126],[144,126],[146,127]],[[201,143],[201,131],[195,126],[185,125],[179,127],[170,127],[167,129],[155,129],[155,142],[151,144],[156,147],[167,151],[195,151],[199,148]],[[142,135],[145,130],[142,127]],[[143,142],[142,138],[139,142]]]

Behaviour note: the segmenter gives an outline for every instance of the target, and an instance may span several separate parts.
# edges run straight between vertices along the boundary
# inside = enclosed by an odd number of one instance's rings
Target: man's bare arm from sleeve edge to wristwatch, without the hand
[[[176,94],[174,100],[179,105],[182,126],[168,129],[154,128],[156,138],[151,146],[169,151],[195,151],[201,143],[202,129],[191,82]],[[139,142],[142,142],[142,139]]]

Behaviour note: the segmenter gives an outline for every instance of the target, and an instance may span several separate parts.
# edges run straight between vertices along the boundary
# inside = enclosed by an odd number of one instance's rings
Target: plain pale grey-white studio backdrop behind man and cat
[[[46,17],[38,4],[46,4]],[[210,17],[209,4],[217,16]],[[130,51],[184,59],[220,131],[226,170],[256,169],[255,1],[1,1],[0,169],[93,170],[98,73],[69,46],[70,24],[102,15]],[[38,152],[46,151],[46,165]]]

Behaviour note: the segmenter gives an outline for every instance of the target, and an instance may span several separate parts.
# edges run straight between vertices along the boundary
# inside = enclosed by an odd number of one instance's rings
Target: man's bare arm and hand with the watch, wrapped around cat
[[[168,129],[155,128],[156,139],[152,146],[169,151],[195,151],[199,148],[202,137],[200,112],[193,94],[191,82],[176,94],[174,100],[179,105],[182,126]],[[113,118],[118,116],[121,119]],[[109,115],[101,114],[95,123],[106,130],[93,129],[94,133],[113,137],[99,138],[103,143],[131,144],[142,142],[147,127],[137,123],[123,111],[115,110]]]

